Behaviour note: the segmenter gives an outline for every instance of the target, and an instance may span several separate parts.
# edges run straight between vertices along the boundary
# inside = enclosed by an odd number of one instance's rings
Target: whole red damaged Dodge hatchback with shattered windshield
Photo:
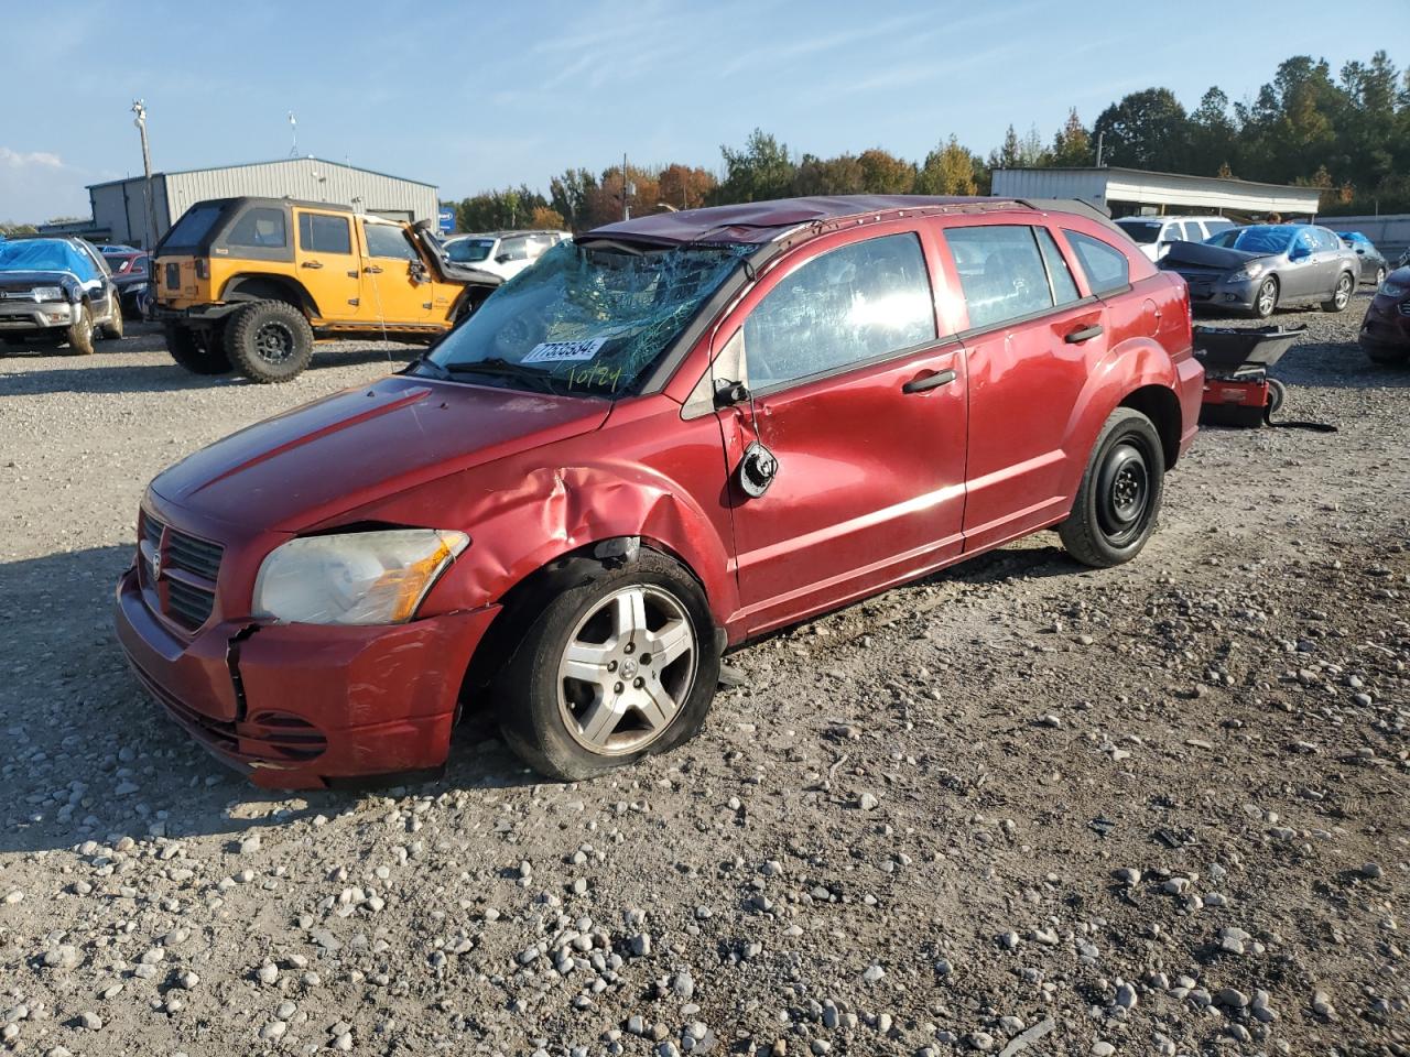
[[[437,768],[481,705],[585,778],[694,734],[771,629],[1052,526],[1132,558],[1201,381],[1183,280],[1079,203],[611,224],[157,476],[117,631],[261,785]]]

